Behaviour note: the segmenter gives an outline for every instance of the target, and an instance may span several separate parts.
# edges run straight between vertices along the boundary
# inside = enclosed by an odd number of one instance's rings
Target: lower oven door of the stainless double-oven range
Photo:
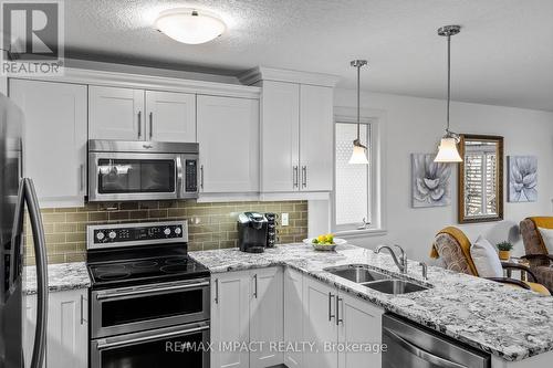
[[[209,368],[209,323],[91,341],[91,368]]]

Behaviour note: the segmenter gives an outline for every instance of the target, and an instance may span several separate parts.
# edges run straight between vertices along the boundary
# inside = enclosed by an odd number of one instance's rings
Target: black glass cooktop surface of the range
[[[209,271],[187,254],[88,263],[93,287],[188,280]]]

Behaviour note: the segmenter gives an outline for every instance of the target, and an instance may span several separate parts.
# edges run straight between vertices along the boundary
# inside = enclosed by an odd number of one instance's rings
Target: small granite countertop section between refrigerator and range
[[[25,266],[27,295],[36,294],[36,269],[35,266]],[[85,288],[91,286],[86,263],[55,263],[48,265],[48,286],[50,292],[62,292],[69,290]]]

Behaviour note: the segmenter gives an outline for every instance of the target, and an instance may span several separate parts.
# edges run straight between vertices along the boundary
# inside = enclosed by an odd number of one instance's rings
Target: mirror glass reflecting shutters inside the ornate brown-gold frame
[[[466,215],[497,213],[495,146],[492,143],[467,145],[465,154]]]

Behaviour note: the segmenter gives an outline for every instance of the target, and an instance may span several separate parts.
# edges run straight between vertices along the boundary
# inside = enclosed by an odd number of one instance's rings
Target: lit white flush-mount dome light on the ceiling
[[[221,35],[227,25],[219,17],[207,11],[170,9],[159,14],[156,28],[178,42],[199,44]]]

